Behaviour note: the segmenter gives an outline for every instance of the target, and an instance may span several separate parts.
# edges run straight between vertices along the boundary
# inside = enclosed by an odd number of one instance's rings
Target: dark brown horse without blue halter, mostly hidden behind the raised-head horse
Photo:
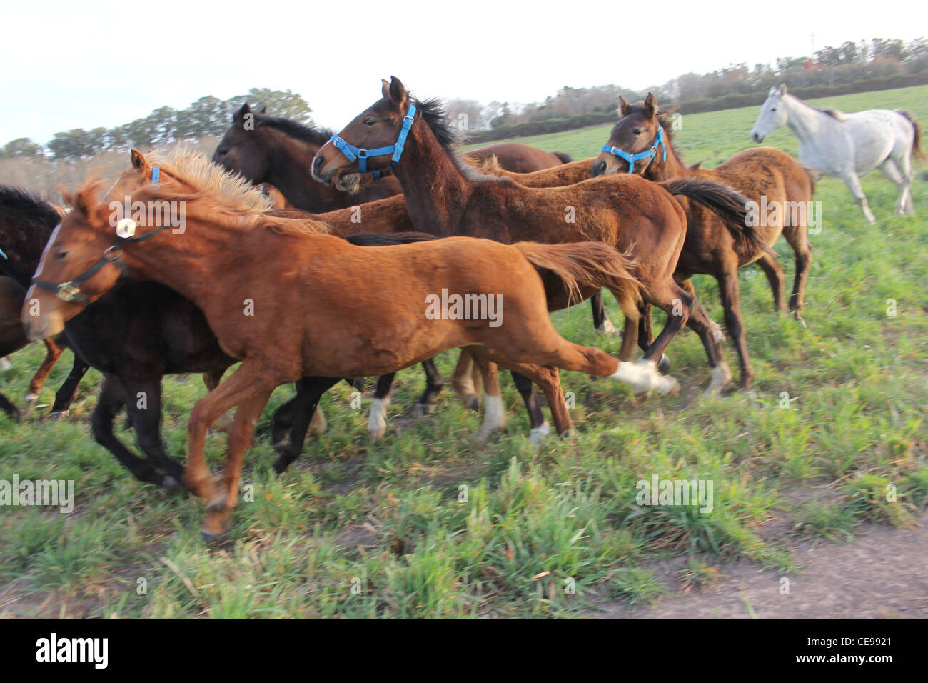
[[[247,178],[255,185],[270,183],[292,206],[320,214],[373,202],[401,193],[390,173],[379,178],[343,178],[339,190],[313,181],[309,162],[332,132],[291,119],[253,112],[246,102],[232,115],[232,123],[213,152],[213,163]],[[564,164],[563,152],[537,150],[519,143],[500,143],[471,150],[464,157],[473,164],[496,156],[509,170],[536,171]]]

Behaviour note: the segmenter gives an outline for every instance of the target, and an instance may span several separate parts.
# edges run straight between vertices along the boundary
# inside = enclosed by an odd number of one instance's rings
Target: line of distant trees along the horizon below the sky
[[[838,47],[822,47],[812,58],[783,57],[773,65],[754,64],[749,68],[741,63],[715,72],[684,73],[640,92],[619,85],[565,85],[544,101],[529,104],[449,99],[448,112],[453,121],[463,123],[471,139],[489,141],[610,121],[619,94],[633,100],[651,91],[662,104],[677,105],[685,112],[706,112],[759,103],[755,100],[763,101],[769,87],[780,83],[789,84],[803,98],[922,85],[928,83],[928,40],[847,41]],[[200,98],[183,110],[161,107],[145,118],[115,128],[75,128],[56,133],[45,145],[18,138],[0,148],[0,158],[74,159],[100,151],[159,147],[176,140],[221,136],[231,113],[244,101],[266,106],[276,116],[313,124],[312,109],[300,95],[290,90],[251,88],[247,95],[225,100]]]

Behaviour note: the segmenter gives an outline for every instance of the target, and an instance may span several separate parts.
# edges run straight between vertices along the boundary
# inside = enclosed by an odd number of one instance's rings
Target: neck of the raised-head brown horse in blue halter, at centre
[[[403,158],[393,175],[403,188],[406,210],[416,230],[439,236],[455,234],[471,184],[424,120],[409,129]]]

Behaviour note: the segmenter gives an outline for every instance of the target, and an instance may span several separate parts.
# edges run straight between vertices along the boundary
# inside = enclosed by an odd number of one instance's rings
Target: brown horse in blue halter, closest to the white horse
[[[782,310],[783,267],[769,248],[782,233],[793,247],[796,262],[790,309],[797,321],[803,321],[803,297],[812,262],[806,224],[813,181],[792,156],[772,147],[741,151],[712,170],[687,168],[674,148],[669,113],[659,111],[653,94],[649,93],[647,99],[635,105],[619,96],[619,112],[621,118],[612,127],[608,141],[593,164],[593,177],[629,172],[655,181],[703,177],[738,190],[758,206],[780,208],[765,214],[763,221],[758,221],[755,230],[760,242],[752,243],[739,239],[738,233],[726,230],[722,220],[711,211],[691,202],[684,205],[687,239],[674,277],[688,290],[692,289],[690,278],[697,273],[712,275],[718,282],[726,328],[741,361],[741,387],[750,387],[754,371],[744,338],[738,269],[757,263],[767,274],[773,289],[774,309]],[[633,161],[629,162],[629,159]],[[796,210],[791,211],[791,207]],[[639,334],[650,334],[645,332],[650,330],[650,317],[649,309],[642,316]]]

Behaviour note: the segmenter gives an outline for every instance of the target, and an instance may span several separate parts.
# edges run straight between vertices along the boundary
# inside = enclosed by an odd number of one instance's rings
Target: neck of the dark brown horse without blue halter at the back
[[[309,169],[319,148],[303,140],[291,138],[280,131],[268,133],[264,144],[268,171],[262,182],[268,182],[298,209],[321,213],[344,205],[331,188],[317,183]]]

